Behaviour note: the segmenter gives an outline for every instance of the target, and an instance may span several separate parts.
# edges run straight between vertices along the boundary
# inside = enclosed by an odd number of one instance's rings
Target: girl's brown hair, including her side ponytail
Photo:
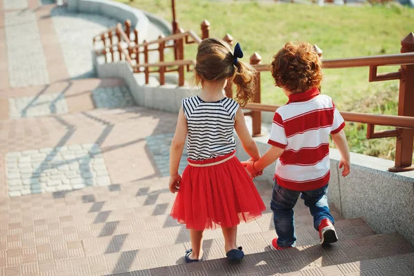
[[[245,106],[253,99],[256,70],[248,63],[237,60],[228,43],[221,39],[208,38],[201,41],[197,48],[194,67],[195,83],[228,79],[237,86],[236,101]]]

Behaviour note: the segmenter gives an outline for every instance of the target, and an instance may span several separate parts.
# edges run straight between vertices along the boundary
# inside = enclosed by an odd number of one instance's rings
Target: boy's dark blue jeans
[[[332,223],[333,217],[329,213],[328,198],[326,192],[328,184],[316,190],[296,191],[289,190],[277,185],[273,188],[273,197],[270,202],[270,209],[273,210],[273,221],[277,233],[277,245],[281,247],[295,246],[295,219],[293,218],[293,207],[302,193],[305,205],[309,207],[313,215],[313,226],[317,230],[322,219],[329,219]]]

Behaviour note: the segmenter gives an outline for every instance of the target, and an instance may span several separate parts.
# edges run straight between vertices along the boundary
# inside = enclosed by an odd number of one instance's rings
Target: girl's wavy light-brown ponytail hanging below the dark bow
[[[233,83],[237,86],[235,100],[240,106],[253,101],[255,93],[255,75],[257,71],[250,64],[237,60]]]

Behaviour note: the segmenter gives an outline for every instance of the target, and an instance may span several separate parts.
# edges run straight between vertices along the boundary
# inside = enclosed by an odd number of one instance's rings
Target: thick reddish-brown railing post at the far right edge
[[[401,52],[414,52],[414,34],[411,32],[401,41]],[[414,64],[400,68],[400,94],[398,97],[398,116],[414,117]],[[391,172],[414,170],[413,163],[414,130],[401,128],[395,146],[395,166]]]

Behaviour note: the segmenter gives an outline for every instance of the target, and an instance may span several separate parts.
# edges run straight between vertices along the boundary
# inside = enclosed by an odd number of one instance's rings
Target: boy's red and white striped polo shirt
[[[290,190],[315,190],[328,184],[329,134],[345,123],[331,97],[317,88],[289,95],[275,112],[268,144],[284,148],[277,160],[277,184]]]

